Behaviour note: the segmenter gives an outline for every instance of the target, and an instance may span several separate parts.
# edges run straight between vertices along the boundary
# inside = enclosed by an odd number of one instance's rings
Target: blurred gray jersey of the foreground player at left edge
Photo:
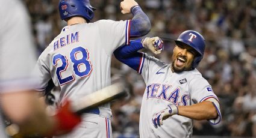
[[[0,0],[0,94],[31,89],[30,73],[36,63],[36,51],[30,18],[20,1]],[[1,103],[1,101],[0,101]],[[0,119],[0,137],[3,136]]]

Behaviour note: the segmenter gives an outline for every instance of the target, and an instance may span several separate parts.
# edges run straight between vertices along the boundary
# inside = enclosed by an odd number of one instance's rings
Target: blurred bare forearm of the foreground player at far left
[[[36,92],[10,92],[1,95],[1,101],[5,114],[19,125],[20,133],[48,134],[54,128],[55,122],[46,115],[45,103],[39,100]]]

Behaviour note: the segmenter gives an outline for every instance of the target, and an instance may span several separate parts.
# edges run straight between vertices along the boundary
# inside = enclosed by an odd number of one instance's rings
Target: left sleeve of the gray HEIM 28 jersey
[[[33,70],[34,76],[37,78],[37,91],[44,91],[48,86],[48,82],[51,79],[51,73],[48,62],[46,61],[45,53],[43,52],[37,60],[36,66]]]

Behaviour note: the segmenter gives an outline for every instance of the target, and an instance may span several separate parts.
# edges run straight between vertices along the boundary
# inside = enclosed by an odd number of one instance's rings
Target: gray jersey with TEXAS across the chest
[[[152,124],[154,113],[160,112],[168,104],[189,106],[205,100],[214,102],[218,117],[209,120],[220,122],[219,102],[211,85],[198,70],[172,73],[170,64],[143,53],[138,72],[146,83],[140,110],[140,137],[192,137],[193,119],[173,115],[163,121],[161,127]]]

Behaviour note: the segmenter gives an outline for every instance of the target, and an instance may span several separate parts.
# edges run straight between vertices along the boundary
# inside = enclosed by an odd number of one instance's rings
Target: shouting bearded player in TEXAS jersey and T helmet
[[[140,137],[192,137],[193,119],[221,120],[219,100],[211,85],[196,70],[204,56],[205,40],[196,31],[184,31],[173,49],[172,64],[146,53],[154,47],[161,52],[158,37],[145,38],[122,46],[114,55],[142,75],[146,83],[140,110]]]

